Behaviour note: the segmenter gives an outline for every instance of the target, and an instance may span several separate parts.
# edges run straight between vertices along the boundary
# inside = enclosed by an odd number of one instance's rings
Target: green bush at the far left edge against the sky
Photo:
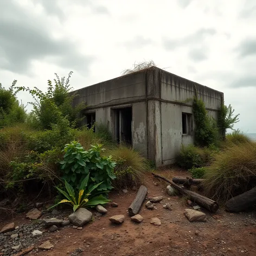
[[[0,128],[17,123],[24,123],[26,118],[25,108],[16,98],[17,91],[14,87],[17,81],[14,80],[9,89],[0,84]]]

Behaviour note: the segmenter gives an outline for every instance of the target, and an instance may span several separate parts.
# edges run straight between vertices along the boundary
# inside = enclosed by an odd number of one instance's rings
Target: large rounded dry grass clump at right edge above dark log
[[[226,202],[256,185],[256,144],[233,144],[216,155],[204,175],[206,193]]]

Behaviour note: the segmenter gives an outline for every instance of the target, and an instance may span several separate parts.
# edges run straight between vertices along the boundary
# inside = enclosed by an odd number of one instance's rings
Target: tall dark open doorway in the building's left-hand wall
[[[132,145],[132,108],[113,110],[114,134],[118,143]]]

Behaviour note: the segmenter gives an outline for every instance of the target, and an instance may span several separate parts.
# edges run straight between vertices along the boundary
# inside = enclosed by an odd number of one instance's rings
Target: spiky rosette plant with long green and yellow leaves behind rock
[[[97,189],[103,182],[97,183],[91,188],[87,188],[89,175],[90,174],[87,174],[84,180],[82,180],[81,184],[79,185],[79,189],[74,189],[72,185],[69,184],[67,181],[65,181],[66,191],[63,191],[62,189],[56,187],[56,189],[59,190],[59,192],[66,199],[61,200],[59,203],[55,204],[49,209],[56,207],[60,203],[67,203],[73,207],[73,211],[75,212],[81,207],[94,207],[98,204],[105,204],[107,202],[110,202],[110,200],[106,199],[103,195],[93,196],[93,191]]]

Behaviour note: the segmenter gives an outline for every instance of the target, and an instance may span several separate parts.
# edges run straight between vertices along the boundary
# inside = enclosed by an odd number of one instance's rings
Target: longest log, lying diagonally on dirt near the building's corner
[[[153,174],[152,173],[152,175],[157,177],[157,178],[161,178],[162,180],[170,183],[172,185],[172,187],[174,187],[181,194],[187,195],[190,198],[191,201],[193,201],[193,202],[199,204],[200,206],[206,208],[210,212],[215,213],[219,209],[219,204],[217,204],[217,202],[209,199],[208,197],[197,194],[194,191],[182,188],[179,185],[175,184],[174,182],[172,182],[172,181],[168,180],[167,178],[165,178],[163,176],[160,176],[158,174]]]

